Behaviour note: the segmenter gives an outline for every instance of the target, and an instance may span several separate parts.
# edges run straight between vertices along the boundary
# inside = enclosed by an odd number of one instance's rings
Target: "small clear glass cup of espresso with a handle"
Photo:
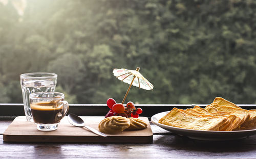
[[[58,128],[60,120],[66,116],[69,103],[59,92],[38,92],[29,95],[30,108],[34,123],[41,131],[52,131]]]

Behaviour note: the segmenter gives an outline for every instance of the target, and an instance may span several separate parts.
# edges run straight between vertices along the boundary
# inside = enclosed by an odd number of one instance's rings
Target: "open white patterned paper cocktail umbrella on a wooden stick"
[[[114,68],[113,73],[119,80],[123,81],[124,83],[129,84],[129,88],[126,91],[126,94],[123,98],[122,104],[129,93],[131,86],[136,86],[145,90],[152,90],[154,86],[143,77],[142,74],[139,72],[140,68],[137,67],[136,70],[129,70],[129,69],[117,69]]]

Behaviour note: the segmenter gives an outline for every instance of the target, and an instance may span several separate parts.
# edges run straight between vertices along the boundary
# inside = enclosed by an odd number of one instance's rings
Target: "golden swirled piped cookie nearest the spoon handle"
[[[98,127],[102,133],[116,134],[130,127],[130,120],[121,116],[112,116],[103,119]]]

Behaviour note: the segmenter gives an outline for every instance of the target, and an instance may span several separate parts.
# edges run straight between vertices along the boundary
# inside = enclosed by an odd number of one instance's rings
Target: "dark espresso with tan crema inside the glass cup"
[[[56,108],[54,102],[37,102],[30,104],[35,123],[58,123],[62,119],[62,107]]]

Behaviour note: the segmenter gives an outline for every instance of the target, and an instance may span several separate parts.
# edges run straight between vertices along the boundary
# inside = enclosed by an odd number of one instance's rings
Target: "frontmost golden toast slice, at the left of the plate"
[[[159,121],[161,124],[196,130],[218,130],[219,125],[226,122],[225,118],[202,118],[197,115],[188,116],[174,108]]]

